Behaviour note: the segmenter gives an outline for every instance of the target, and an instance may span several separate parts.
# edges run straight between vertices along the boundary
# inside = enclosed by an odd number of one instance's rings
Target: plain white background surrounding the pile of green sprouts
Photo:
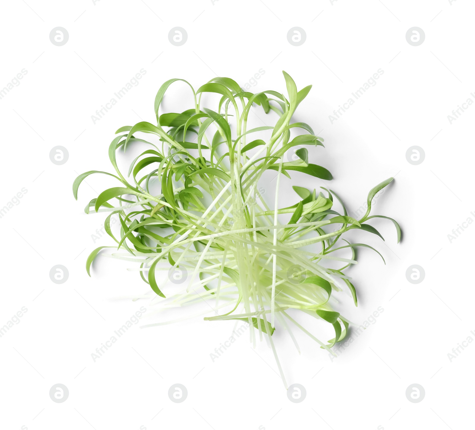
[[[28,192],[0,219],[0,323],[22,306],[28,312],[0,338],[0,427],[471,428],[475,344],[452,362],[447,354],[468,336],[475,339],[470,333],[475,226],[452,243],[447,235],[468,217],[475,219],[470,214],[475,107],[452,124],[447,115],[475,99],[470,96],[474,9],[468,0],[4,3],[0,87],[22,68],[28,73],[0,100],[0,206],[22,187]],[[69,33],[61,47],[49,39],[58,26]],[[188,33],[180,47],[169,42],[173,27]],[[287,41],[292,27],[306,32],[303,45]],[[418,47],[406,41],[411,27],[425,32]],[[140,84],[94,124],[95,110],[141,68],[146,74]],[[114,131],[140,120],[153,122],[153,100],[165,80],[184,78],[198,88],[227,76],[244,86],[261,68],[265,73],[253,92],[285,92],[283,69],[299,89],[313,84],[295,120],[322,130],[325,148],[311,161],[332,171],[330,186],[351,210],[364,204],[372,186],[395,176],[374,213],[396,218],[403,241],[396,244],[390,223],[373,223],[385,243],[363,232],[354,238],[376,246],[387,264],[363,250],[360,264],[349,271],[360,302],[349,307],[348,317],[362,323],[379,306],[384,312],[333,362],[304,336],[298,355],[284,333],[276,332],[288,383],[306,388],[301,403],[287,399],[265,343],[254,351],[242,336],[211,361],[209,354],[228,339],[233,323],[196,318],[143,330],[134,325],[93,362],[95,348],[141,305],[148,308],[147,300],[114,297],[142,294],[147,285],[126,270],[133,264],[104,257],[87,276],[86,256],[112,240],[93,242],[105,215],[85,215],[83,208],[97,191],[116,185],[90,176],[76,202],[73,180],[87,170],[112,171],[107,148]],[[333,109],[379,68],[384,74],[377,85],[331,124]],[[175,94],[182,88],[178,85]],[[164,109],[173,102],[171,94],[173,89]],[[257,114],[257,125],[268,121],[262,111]],[[49,159],[57,145],[69,152],[62,166]],[[406,159],[414,145],[425,151],[418,166]],[[309,176],[292,179],[292,184],[325,186]],[[271,203],[272,190],[266,189]],[[297,201],[290,192],[286,198]],[[66,283],[51,282],[49,270],[56,264],[67,267]],[[426,274],[417,285],[406,279],[412,264]],[[49,398],[57,383],[69,390],[64,403]],[[168,398],[174,383],[187,387],[183,403]],[[426,392],[419,403],[405,395],[414,383]]]

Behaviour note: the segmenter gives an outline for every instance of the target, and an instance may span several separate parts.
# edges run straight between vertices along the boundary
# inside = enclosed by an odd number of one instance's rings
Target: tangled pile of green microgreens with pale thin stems
[[[116,242],[117,249],[126,251],[114,253],[112,257],[140,263],[143,281],[157,294],[154,301],[159,296],[165,298],[162,292],[165,287],[171,291],[166,301],[168,306],[182,307],[205,301],[209,308],[201,314],[214,313],[205,320],[246,321],[254,346],[256,337],[262,340],[264,334],[286,386],[272,340],[276,320],[289,332],[297,350],[293,326],[329,352],[336,342],[345,338],[349,321],[332,310],[331,294],[346,288],[357,305],[355,288],[343,270],[356,264],[356,247],[374,248],[349,243],[342,235],[352,229],[380,235],[365,222],[374,217],[387,218],[370,216],[371,202],[393,178],[370,191],[368,209],[359,220],[348,216],[340,197],[323,187],[327,196],[294,186],[299,201],[280,207],[281,175],[290,178],[290,173],[296,170],[324,180],[332,179],[327,169],[309,163],[304,147],[323,146],[323,139],[315,136],[309,125],[291,122],[295,109],[311,86],[297,91],[294,80],[285,72],[284,76],[288,97],[276,91],[252,94],[230,78],[212,79],[196,92],[183,79],[165,82],[155,98],[157,124],[142,121],[117,130],[118,136],[109,147],[109,158],[116,175],[95,170],[85,172],[74,181],[73,193],[77,199],[79,185],[93,173],[119,180],[121,186],[106,189],[85,208],[86,213],[92,212],[90,208],[96,213],[110,212],[104,228]],[[175,81],[190,86],[194,106],[181,113],[159,115],[163,96]],[[217,110],[200,106],[201,95],[205,92],[222,95]],[[273,110],[279,115],[274,127],[247,129],[249,112],[256,105],[265,113]],[[234,132],[231,132],[231,124]],[[206,134],[210,127],[216,129],[212,138]],[[266,141],[249,138],[264,130],[268,130]],[[291,140],[291,131],[297,130],[304,130],[306,134]],[[139,132],[158,136],[161,143],[154,145],[136,137]],[[193,140],[196,142],[191,142]],[[115,158],[116,151],[119,148],[125,151],[131,142],[152,147],[132,161],[128,177],[132,175],[133,184],[120,172]],[[295,150],[295,147],[299,149]],[[296,161],[285,161],[289,150],[295,150]],[[257,188],[259,179],[269,169],[277,172],[273,208],[267,206]],[[161,194],[150,191],[149,186],[154,181],[161,184]],[[332,209],[333,195],[342,205],[343,215]],[[114,198],[119,202],[117,207],[109,203]],[[120,238],[111,231],[111,216],[115,214],[120,221]],[[287,224],[279,224],[280,214],[292,214]],[[387,219],[396,226],[399,242],[398,223]],[[326,231],[324,227],[331,224],[339,228]],[[308,251],[307,245],[311,244],[319,244],[319,249]],[[105,247],[101,246],[89,255],[88,274],[96,255]],[[343,248],[352,250],[351,259],[331,255]],[[344,265],[332,269],[322,265],[324,260]],[[185,276],[186,281],[180,284],[177,279],[162,277],[163,280],[157,276],[160,270],[173,273],[173,276]],[[170,289],[167,284],[171,285]],[[238,311],[238,306],[242,310]],[[218,314],[224,307],[231,310]],[[335,337],[328,343],[321,342],[289,315],[289,309],[300,309],[332,324]]]

